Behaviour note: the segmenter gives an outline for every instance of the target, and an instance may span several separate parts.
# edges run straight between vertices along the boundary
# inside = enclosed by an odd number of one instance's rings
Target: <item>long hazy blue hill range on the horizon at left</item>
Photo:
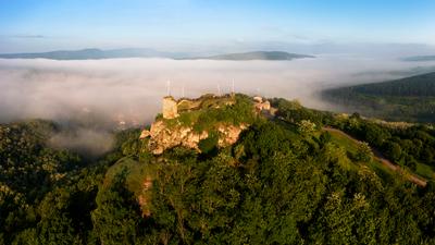
[[[34,53],[3,53],[3,59],[51,59],[51,60],[99,60],[113,58],[171,58],[177,59],[185,57],[184,53],[160,52],[153,49],[82,49],[82,50],[60,50],[51,52]]]

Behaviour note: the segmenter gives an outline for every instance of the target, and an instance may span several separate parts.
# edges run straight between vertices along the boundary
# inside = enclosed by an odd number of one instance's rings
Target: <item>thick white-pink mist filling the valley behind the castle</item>
[[[334,110],[316,96],[320,90],[397,78],[402,73],[391,71],[412,71],[423,64],[430,63],[352,56],[293,61],[0,59],[0,122],[28,118],[64,125],[75,122],[80,132],[52,142],[73,149],[95,145],[94,151],[103,152],[111,145],[102,143],[110,140],[107,132],[154,119],[167,81],[174,97],[183,90],[186,97],[216,94],[219,88],[228,93],[234,81],[237,93],[299,99],[307,107]]]

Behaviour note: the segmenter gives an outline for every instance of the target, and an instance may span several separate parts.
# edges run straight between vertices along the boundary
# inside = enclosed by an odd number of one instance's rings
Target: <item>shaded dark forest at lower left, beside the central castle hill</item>
[[[83,244],[113,152],[95,163],[54,149],[46,121],[0,125],[0,244]]]

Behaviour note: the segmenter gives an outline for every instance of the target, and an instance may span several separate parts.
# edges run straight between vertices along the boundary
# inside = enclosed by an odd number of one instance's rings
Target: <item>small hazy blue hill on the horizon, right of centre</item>
[[[314,58],[312,56],[288,53],[283,51],[254,51],[240,53],[226,53],[211,57],[187,58],[192,60],[294,60],[302,58]]]

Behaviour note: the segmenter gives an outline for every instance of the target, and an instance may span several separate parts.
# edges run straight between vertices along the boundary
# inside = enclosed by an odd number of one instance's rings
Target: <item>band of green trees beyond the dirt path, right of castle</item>
[[[411,172],[435,179],[435,130],[425,124],[388,123],[352,115],[333,115],[330,112],[301,107],[297,101],[275,99],[278,115],[288,122],[303,119],[319,126],[332,126],[368,143],[382,155]]]

